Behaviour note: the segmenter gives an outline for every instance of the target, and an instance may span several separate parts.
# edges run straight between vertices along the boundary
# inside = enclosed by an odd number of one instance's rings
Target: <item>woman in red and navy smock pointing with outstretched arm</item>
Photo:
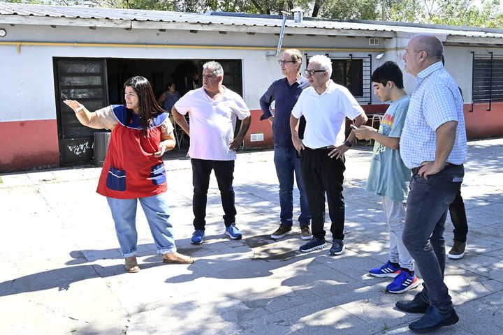
[[[175,147],[173,125],[144,77],[131,77],[124,83],[124,91],[126,105],[111,105],[96,112],[89,112],[78,101],[64,103],[84,126],[112,130],[96,192],[107,198],[126,271],[140,271],[136,260],[138,201],[163,262],[192,263],[191,257],[177,253],[166,194],[162,155]]]

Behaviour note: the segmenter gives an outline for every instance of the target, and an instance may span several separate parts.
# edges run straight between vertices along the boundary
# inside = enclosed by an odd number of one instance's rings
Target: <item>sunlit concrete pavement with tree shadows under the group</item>
[[[190,161],[167,160],[177,246],[196,262],[163,265],[138,208],[138,274],[124,272],[110,211],[95,193],[100,168],[2,174],[1,334],[410,334],[407,325],[420,315],[394,305],[417,289],[386,294],[389,278],[367,275],[388,256],[379,198],[365,192],[370,156],[369,147],[347,155],[347,249],[335,257],[328,248],[298,252],[298,225],[296,234],[269,239],[279,216],[272,151],[241,153],[236,161],[244,238],[224,237],[212,179],[207,237],[191,245]],[[439,334],[502,332],[502,162],[503,139],[469,142],[467,254],[446,266],[460,322]],[[446,223],[446,241],[452,236]]]

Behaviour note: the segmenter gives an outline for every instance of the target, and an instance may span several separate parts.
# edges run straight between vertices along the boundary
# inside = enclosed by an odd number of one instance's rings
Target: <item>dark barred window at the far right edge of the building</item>
[[[503,101],[503,54],[475,54],[472,67],[472,105]],[[473,111],[473,107],[472,107]]]

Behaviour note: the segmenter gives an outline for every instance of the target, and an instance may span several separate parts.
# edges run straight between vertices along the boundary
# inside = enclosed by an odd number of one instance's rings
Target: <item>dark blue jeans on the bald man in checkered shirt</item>
[[[407,198],[402,240],[423,276],[423,299],[442,311],[453,308],[444,283],[445,220],[464,175],[463,165],[448,165],[428,180],[414,174]]]

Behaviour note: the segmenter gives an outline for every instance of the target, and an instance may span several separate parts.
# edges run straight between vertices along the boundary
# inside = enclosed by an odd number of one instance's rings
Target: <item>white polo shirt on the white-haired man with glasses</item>
[[[363,114],[363,108],[346,87],[330,80],[322,94],[312,87],[302,91],[291,114],[297,119],[304,115],[306,127],[302,143],[305,147],[318,149],[344,144],[346,117],[356,119]]]

